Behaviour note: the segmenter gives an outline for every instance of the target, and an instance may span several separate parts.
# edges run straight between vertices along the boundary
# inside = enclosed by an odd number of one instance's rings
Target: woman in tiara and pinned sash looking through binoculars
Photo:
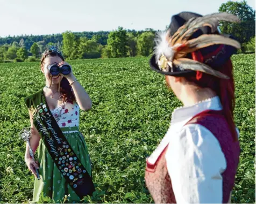
[[[78,202],[94,191],[86,142],[79,132],[79,110],[91,109],[91,100],[65,62],[58,48],[48,47],[41,58],[46,86],[25,98],[31,121],[30,143],[34,162],[26,148],[25,162],[37,179],[33,201],[40,194],[60,202],[65,195]],[[37,177],[35,169],[39,170]]]

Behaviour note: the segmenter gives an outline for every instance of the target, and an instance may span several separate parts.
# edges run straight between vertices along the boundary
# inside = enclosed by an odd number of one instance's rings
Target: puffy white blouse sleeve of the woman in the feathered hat
[[[185,125],[172,135],[167,170],[177,203],[222,203],[226,160],[214,135],[202,125]]]

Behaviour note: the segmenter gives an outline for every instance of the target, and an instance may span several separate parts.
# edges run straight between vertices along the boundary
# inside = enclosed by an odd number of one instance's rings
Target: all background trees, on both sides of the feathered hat
[[[234,35],[242,44],[239,52],[255,52],[255,10],[246,1],[229,1],[219,7],[219,12],[235,14],[241,20],[240,24],[221,22],[220,25],[222,33]],[[134,31],[118,27],[111,32],[67,31],[53,35],[0,37],[0,61],[36,61],[49,44],[58,46],[67,59],[149,56],[157,32],[151,28]]]

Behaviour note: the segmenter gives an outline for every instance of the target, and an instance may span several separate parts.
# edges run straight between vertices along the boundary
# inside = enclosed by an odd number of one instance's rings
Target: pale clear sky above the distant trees
[[[218,12],[226,0],[0,0],[0,37],[65,31],[164,30],[181,11]],[[255,10],[255,0],[247,0]]]

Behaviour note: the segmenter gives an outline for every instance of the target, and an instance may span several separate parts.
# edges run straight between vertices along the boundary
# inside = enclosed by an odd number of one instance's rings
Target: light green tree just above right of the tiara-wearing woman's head
[[[63,37],[63,47],[62,47],[63,54],[69,59],[76,59],[78,56],[76,47],[79,42],[77,41],[75,34],[67,31],[65,33],[62,33],[62,37]]]

